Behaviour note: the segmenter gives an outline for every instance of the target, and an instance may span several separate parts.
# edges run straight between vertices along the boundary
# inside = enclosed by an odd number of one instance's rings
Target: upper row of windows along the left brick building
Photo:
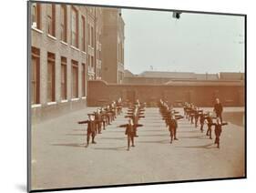
[[[41,21],[41,7],[42,5],[39,3],[32,4],[31,10],[31,20],[32,26],[37,29],[42,29],[42,21]],[[46,4],[46,25],[47,25],[47,33],[51,36],[56,36],[56,5],[54,4]],[[90,24],[86,24],[85,15],[81,15],[81,50],[86,51],[87,47],[87,38],[88,36],[88,46],[95,47],[95,30],[94,26]],[[78,11],[72,6],[71,7],[71,45],[78,47]],[[67,42],[67,5],[61,5],[60,9],[60,39],[64,42]],[[88,34],[87,34],[88,33]],[[96,35],[97,40],[100,41],[100,33]]]

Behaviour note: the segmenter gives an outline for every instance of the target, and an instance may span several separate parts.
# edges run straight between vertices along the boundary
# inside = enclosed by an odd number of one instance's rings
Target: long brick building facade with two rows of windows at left
[[[87,80],[101,79],[101,8],[30,3],[32,118],[87,106]]]

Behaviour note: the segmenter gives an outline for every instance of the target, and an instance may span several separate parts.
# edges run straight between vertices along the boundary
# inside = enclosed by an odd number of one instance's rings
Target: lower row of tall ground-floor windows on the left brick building
[[[61,56],[61,99],[67,99],[67,57]],[[78,97],[78,62],[71,60],[71,96]],[[40,50],[32,47],[31,101],[40,104]],[[82,96],[86,96],[87,72],[82,64]],[[47,102],[56,101],[56,55],[47,53]]]

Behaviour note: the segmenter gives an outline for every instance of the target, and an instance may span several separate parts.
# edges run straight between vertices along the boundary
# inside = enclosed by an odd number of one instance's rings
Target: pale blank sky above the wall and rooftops
[[[122,9],[125,68],[170,72],[244,72],[244,18]]]

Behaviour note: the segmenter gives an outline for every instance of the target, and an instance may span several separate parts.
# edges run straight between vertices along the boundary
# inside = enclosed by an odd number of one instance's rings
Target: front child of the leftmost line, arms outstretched
[[[89,146],[90,137],[92,137],[92,144],[96,144],[95,136],[96,136],[96,122],[93,114],[88,114],[88,120],[79,121],[78,124],[87,124],[87,145]]]

